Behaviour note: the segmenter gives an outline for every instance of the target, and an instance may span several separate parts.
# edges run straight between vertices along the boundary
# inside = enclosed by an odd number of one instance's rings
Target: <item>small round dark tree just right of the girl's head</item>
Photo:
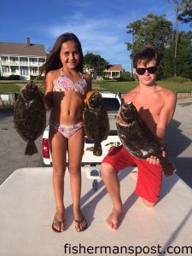
[[[107,65],[108,61],[103,59],[100,55],[94,55],[89,52],[84,55],[84,68],[89,71],[93,79],[96,79],[97,76],[102,76]]]

